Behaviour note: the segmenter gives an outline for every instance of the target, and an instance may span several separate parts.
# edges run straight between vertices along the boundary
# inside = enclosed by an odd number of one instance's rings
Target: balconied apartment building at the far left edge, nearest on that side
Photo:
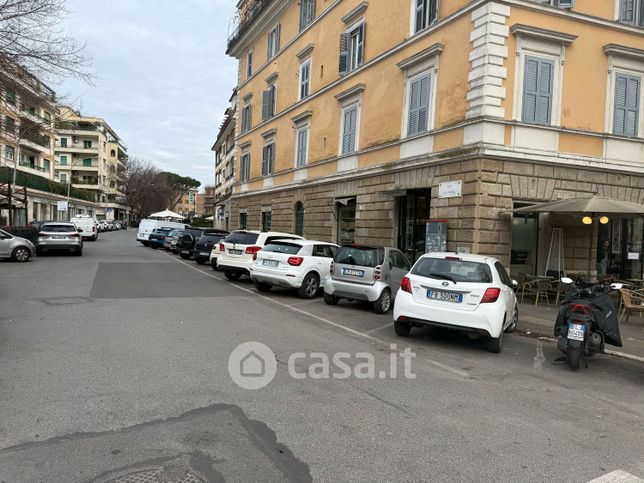
[[[65,187],[54,181],[56,93],[37,77],[3,63],[0,71],[0,222],[58,219]],[[73,193],[82,196],[82,193]],[[79,209],[91,212],[87,199]]]

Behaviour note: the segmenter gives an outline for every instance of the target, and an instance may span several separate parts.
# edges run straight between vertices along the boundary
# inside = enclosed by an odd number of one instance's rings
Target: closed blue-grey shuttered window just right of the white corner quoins
[[[523,122],[550,124],[554,61],[526,56],[523,79]]]

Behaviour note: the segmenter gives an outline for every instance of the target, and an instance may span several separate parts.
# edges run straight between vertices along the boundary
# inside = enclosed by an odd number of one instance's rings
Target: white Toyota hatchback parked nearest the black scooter
[[[487,338],[501,352],[503,333],[519,320],[514,282],[495,258],[431,253],[421,256],[402,280],[394,305],[396,334],[437,326]]]

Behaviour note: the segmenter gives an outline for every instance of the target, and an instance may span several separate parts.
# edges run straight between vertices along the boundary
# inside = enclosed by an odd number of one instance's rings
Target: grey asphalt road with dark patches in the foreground
[[[248,341],[276,354],[263,389],[228,372]],[[415,354],[414,379],[402,358],[380,378],[390,344]],[[370,353],[376,377],[293,378],[300,351]],[[558,355],[519,335],[499,355],[457,334],[400,339],[390,314],[260,295],[105,233],[83,257],[0,262],[0,482],[644,477],[644,365],[572,373]]]

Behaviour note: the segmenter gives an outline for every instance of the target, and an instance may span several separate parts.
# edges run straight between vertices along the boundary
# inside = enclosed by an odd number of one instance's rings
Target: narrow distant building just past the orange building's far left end
[[[235,129],[237,124],[237,94],[233,92],[230,107],[226,109],[217,140],[212,147],[215,155],[215,207],[214,226],[230,230],[230,210],[233,186],[235,184],[236,144]]]

